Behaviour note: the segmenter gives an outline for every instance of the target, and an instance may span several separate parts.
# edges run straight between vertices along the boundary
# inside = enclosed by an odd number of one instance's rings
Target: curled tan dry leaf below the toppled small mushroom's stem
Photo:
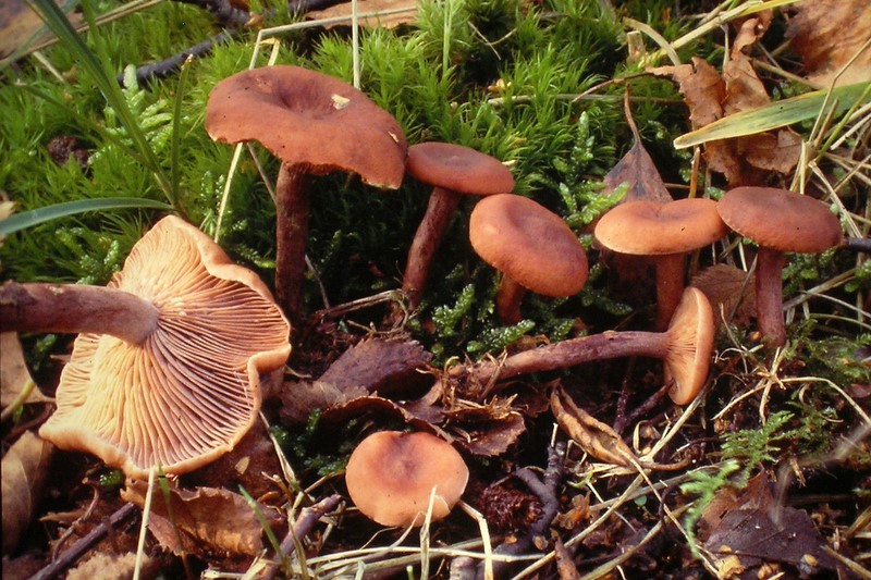
[[[638,464],[633,451],[613,429],[575,405],[562,388],[554,388],[551,410],[563,431],[592,457],[622,467]]]

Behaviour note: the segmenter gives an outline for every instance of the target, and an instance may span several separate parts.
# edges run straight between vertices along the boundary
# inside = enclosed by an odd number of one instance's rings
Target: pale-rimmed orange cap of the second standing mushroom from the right
[[[716,201],[678,199],[667,203],[627,201],[610,209],[593,235],[605,248],[636,256],[683,254],[712,244],[728,232]]]

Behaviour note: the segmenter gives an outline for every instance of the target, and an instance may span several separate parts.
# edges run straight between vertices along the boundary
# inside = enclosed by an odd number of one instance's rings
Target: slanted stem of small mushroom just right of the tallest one
[[[432,258],[439,250],[451,218],[459,206],[461,195],[443,187],[434,187],[429,196],[427,211],[408,249],[402,289],[408,301],[408,309],[420,305],[429,277]]]

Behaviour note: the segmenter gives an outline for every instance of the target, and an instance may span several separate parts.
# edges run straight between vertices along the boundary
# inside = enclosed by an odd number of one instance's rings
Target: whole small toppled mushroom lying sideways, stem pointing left
[[[604,332],[552,343],[524,350],[499,361],[486,360],[471,370],[455,367],[454,378],[467,374],[486,384],[529,372],[564,369],[591,360],[629,356],[663,359],[664,380],[672,382],[668,395],[677,405],[690,403],[699,394],[708,377],[714,344],[714,314],[700,289],[684,291],[665,332]]]

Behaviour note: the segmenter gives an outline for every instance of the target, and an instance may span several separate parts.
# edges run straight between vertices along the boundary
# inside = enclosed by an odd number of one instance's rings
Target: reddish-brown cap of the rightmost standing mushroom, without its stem
[[[841,243],[841,223],[824,203],[788,189],[736,187],[720,200],[723,221],[760,246],[815,254]]]

